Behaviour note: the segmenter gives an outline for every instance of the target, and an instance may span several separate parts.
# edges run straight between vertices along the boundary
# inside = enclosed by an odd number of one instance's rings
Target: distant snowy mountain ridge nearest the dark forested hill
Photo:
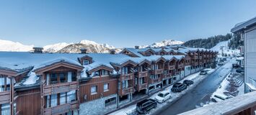
[[[177,40],[164,40],[162,42],[155,42],[152,45],[141,45],[139,47],[144,48],[144,47],[162,47],[162,46],[167,46],[167,45],[182,45],[184,42],[182,41],[177,41]]]

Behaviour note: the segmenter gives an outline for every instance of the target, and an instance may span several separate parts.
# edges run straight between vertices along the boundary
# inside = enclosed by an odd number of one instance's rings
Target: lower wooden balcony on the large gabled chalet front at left
[[[69,111],[79,109],[78,101],[72,101],[71,103],[65,103],[62,105],[50,107],[47,109],[43,109],[43,114],[50,115],[50,114],[65,114]]]

